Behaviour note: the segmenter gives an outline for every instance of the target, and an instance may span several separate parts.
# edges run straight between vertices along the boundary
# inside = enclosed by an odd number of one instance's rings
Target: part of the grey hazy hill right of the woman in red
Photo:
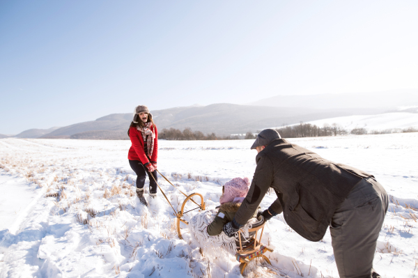
[[[314,121],[321,118],[350,116],[353,114],[374,114],[370,109],[312,109],[300,107],[261,107],[250,105],[231,105],[227,103],[204,107],[176,107],[153,111],[157,127],[186,127],[201,132],[216,134],[245,133],[269,126]]]

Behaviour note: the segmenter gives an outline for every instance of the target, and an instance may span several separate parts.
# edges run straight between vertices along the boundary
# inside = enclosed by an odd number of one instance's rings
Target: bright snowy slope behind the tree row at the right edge
[[[324,124],[336,123],[345,130],[366,128],[366,130],[392,130],[404,128],[418,128],[418,114],[407,112],[385,113],[377,115],[355,115],[336,118],[325,118],[318,121],[309,121],[312,125],[323,127]]]

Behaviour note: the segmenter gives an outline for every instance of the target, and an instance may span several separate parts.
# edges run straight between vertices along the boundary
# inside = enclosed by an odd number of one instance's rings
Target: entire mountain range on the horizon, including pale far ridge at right
[[[389,111],[417,113],[417,107],[418,90],[398,90],[339,95],[278,95],[250,105],[192,105],[151,113],[160,132],[164,128],[192,128],[203,133],[229,135],[341,116],[373,115]],[[15,137],[129,139],[127,129],[131,121],[132,113],[109,114],[95,121],[62,128],[25,130]]]

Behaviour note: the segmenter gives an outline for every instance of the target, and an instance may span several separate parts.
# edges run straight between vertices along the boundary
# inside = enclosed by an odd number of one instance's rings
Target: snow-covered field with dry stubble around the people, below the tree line
[[[289,140],[376,176],[392,203],[374,266],[382,277],[418,275],[418,133]],[[160,141],[158,167],[183,192],[203,194],[212,209],[223,183],[252,178],[251,144]],[[130,141],[0,139],[0,277],[240,277],[234,256],[202,255],[187,226],[185,240],[178,239],[160,192],[149,208],[139,204],[129,147]],[[184,196],[161,177],[159,184],[178,209]],[[262,208],[273,200],[265,196]],[[247,277],[338,277],[329,232],[309,242],[278,215],[263,242],[274,248],[267,254],[272,267],[256,265]]]

